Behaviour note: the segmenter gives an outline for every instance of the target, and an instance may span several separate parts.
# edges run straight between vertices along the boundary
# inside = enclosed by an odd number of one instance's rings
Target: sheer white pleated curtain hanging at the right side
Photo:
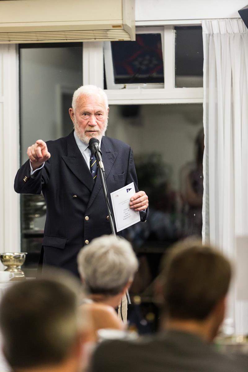
[[[248,235],[248,30],[242,19],[219,19],[204,20],[202,31],[202,234],[235,262],[236,237]],[[228,316],[237,334],[248,333],[248,305],[237,298],[236,285]]]

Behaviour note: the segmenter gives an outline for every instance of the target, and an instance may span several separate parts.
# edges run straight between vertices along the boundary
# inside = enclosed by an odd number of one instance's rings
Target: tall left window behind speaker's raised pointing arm
[[[83,83],[82,43],[21,44],[20,162],[27,148],[41,138],[63,137],[73,129],[68,108],[75,89]],[[35,276],[42,246],[46,205],[42,195],[21,195],[21,245],[28,252],[23,266]]]

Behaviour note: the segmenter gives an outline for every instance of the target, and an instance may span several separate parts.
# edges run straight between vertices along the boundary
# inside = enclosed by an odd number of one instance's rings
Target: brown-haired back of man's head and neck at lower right
[[[187,238],[168,251],[160,278],[168,325],[212,340],[225,315],[231,264],[217,250]]]

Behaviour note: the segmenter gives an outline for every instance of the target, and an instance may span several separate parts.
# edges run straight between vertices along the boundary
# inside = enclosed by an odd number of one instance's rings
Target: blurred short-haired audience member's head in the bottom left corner
[[[1,301],[3,353],[14,372],[78,372],[88,319],[71,276],[14,283]]]

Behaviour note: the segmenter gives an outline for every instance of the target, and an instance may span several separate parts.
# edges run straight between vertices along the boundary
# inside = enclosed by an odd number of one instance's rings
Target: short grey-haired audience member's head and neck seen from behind
[[[86,291],[82,308],[90,311],[95,331],[101,328],[124,329],[122,320],[126,320],[126,314],[120,309],[121,320],[115,308],[138,269],[131,244],[120,237],[103,235],[81,249],[77,262]]]

